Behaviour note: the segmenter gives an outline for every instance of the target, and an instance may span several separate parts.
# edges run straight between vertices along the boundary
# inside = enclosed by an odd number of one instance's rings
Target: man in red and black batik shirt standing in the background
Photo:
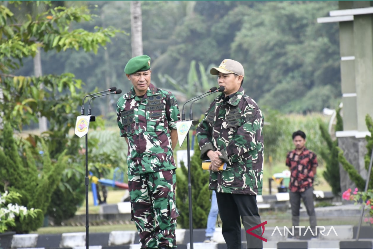
[[[300,238],[299,228],[299,209],[301,199],[307,209],[307,214],[310,217],[310,227],[313,232],[313,237],[316,234],[316,214],[313,205],[313,180],[316,175],[317,156],[314,152],[308,150],[305,145],[305,133],[303,131],[295,131],[292,135],[295,150],[292,150],[286,156],[286,166],[290,167],[290,204],[292,223],[294,227],[294,236]],[[307,232],[308,233],[308,232]]]

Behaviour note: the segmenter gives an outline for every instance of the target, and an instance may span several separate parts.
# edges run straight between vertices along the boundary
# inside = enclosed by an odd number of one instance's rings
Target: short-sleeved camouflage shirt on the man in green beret
[[[150,84],[142,99],[132,87],[117,102],[120,136],[127,137],[128,174],[175,169],[170,129],[176,129],[180,112],[175,96]]]

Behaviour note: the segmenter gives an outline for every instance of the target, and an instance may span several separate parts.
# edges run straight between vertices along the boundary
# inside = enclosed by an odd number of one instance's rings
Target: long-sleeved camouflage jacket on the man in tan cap
[[[219,150],[224,171],[210,173],[210,189],[222,193],[260,195],[263,187],[263,122],[257,103],[241,87],[228,102],[217,97],[197,127],[201,159]]]

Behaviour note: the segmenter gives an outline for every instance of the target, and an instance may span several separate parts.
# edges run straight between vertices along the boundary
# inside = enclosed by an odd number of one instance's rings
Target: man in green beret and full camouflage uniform
[[[128,145],[128,190],[141,248],[176,247],[175,149],[180,112],[175,96],[150,83],[150,57],[136,56],[124,72],[131,90],[117,102],[120,136]]]

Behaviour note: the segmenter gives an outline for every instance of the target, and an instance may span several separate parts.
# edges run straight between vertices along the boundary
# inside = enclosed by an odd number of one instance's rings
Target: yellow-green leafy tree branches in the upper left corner
[[[32,1],[30,1],[32,2]],[[46,1],[50,6],[50,1]],[[20,1],[10,1],[16,9]],[[29,3],[38,4],[38,3]],[[97,52],[117,32],[113,28],[97,28],[96,32],[84,29],[70,30],[72,22],[90,21],[87,7],[55,7],[37,16],[27,15],[28,21],[18,23],[13,12],[0,6],[0,76],[3,100],[1,118],[18,124],[37,122],[37,113],[46,116],[53,131],[66,134],[75,123],[76,103],[82,99],[82,81],[71,73],[47,74],[42,77],[14,75],[26,57],[34,57],[37,47],[45,52],[83,49]],[[84,93],[83,93],[84,94]],[[67,125],[66,125],[67,123]]]

